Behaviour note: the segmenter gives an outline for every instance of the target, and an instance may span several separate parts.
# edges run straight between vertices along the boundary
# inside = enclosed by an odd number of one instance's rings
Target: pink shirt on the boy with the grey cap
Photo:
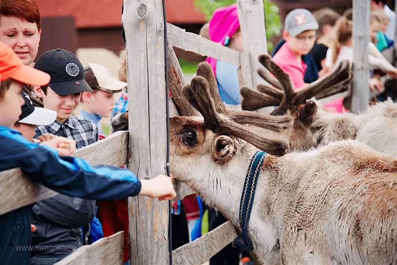
[[[294,83],[295,88],[304,86],[304,73],[306,72],[307,65],[302,60],[298,60],[289,49],[287,43],[277,51],[273,60],[277,65],[289,76]]]

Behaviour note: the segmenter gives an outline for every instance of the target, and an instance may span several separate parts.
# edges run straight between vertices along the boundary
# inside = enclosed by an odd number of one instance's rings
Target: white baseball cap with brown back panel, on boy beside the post
[[[118,81],[109,69],[96,64],[89,63],[84,67],[85,81],[92,89],[100,89],[110,93],[120,92],[127,83]]]

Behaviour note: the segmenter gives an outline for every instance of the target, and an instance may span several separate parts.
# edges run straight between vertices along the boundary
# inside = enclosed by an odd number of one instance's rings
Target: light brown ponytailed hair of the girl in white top
[[[333,41],[332,47],[332,63],[338,58],[341,46],[345,44],[352,36],[353,21],[347,19],[347,17],[341,17],[335,24],[335,40]]]

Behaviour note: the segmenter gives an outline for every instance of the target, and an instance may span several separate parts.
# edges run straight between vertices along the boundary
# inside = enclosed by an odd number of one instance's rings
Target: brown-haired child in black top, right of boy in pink
[[[330,73],[325,65],[325,56],[333,43],[333,26],[341,16],[330,8],[317,10],[313,13],[313,16],[318,23],[318,30],[317,40],[310,54],[316,62],[319,77],[323,77]]]

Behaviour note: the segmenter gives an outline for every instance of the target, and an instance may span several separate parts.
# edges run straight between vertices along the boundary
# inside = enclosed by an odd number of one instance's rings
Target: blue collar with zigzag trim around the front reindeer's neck
[[[251,217],[252,205],[254,204],[256,183],[258,182],[260,169],[262,168],[266,155],[267,154],[261,150],[254,154],[247,171],[247,176],[245,177],[243,192],[241,194],[239,215],[242,232],[233,240],[233,246],[239,246],[243,252],[250,252],[253,249],[252,242],[247,235],[247,230],[249,219]]]

